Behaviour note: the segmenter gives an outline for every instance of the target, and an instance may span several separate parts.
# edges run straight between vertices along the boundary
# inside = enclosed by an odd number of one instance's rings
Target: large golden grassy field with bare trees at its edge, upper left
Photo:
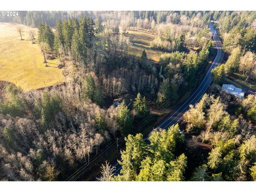
[[[16,29],[22,26],[20,35]],[[28,31],[33,28],[16,23],[0,22],[0,81],[12,82],[23,90],[34,90],[65,81],[59,60],[47,60],[44,67],[43,55],[38,44],[31,44]],[[37,29],[34,28],[35,31]],[[37,32],[36,32],[37,34]]]

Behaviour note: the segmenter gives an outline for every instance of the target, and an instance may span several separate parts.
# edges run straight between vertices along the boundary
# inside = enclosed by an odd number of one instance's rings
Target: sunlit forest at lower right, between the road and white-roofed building
[[[255,95],[238,100],[213,86],[179,125],[126,138],[120,174],[102,165],[103,181],[255,181]],[[231,115],[230,115],[231,114]],[[252,115],[254,114],[254,115]],[[207,154],[208,153],[208,154]]]

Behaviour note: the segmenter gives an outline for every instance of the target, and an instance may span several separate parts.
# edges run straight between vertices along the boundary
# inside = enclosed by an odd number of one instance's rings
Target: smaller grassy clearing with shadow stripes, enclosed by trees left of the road
[[[130,38],[132,52],[137,56],[140,56],[141,52],[145,50],[148,59],[158,62],[160,55],[164,53],[150,48],[150,44],[153,42],[155,35],[150,34],[147,31],[137,29],[127,30],[125,36]]]

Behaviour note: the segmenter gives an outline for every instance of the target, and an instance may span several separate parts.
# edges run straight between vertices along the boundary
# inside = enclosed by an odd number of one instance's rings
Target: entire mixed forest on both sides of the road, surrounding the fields
[[[231,11],[24,11],[1,18],[37,27],[32,43],[45,67],[60,59],[66,82],[32,91],[0,82],[0,180],[66,180],[117,138],[125,138],[120,174],[106,163],[99,180],[255,180],[252,95],[234,99],[214,85],[180,125],[153,130],[146,141],[141,129],[130,134],[151,108],[169,108],[198,85],[216,51],[211,20],[227,57],[212,71],[214,84],[234,73],[255,82],[255,18]],[[155,35],[150,48],[163,52],[159,62],[145,50],[132,52],[129,29]],[[125,95],[133,101],[109,105]]]

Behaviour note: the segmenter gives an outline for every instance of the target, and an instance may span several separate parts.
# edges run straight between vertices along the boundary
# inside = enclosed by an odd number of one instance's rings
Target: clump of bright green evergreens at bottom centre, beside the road
[[[169,131],[170,130],[170,131]],[[153,131],[147,145],[142,134],[129,135],[126,149],[122,151],[122,166],[117,181],[182,181],[187,166],[187,157],[181,154],[174,158],[177,147],[184,141],[179,126],[168,131]]]

